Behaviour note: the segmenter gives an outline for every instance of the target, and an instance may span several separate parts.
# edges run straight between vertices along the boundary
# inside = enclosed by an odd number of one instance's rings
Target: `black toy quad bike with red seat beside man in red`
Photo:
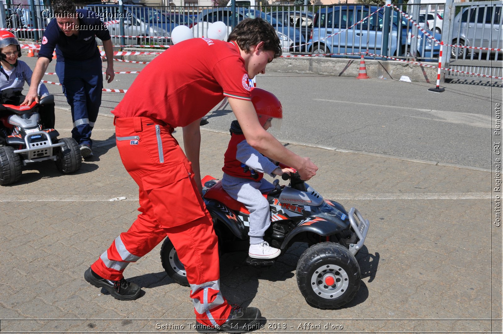
[[[360,288],[360,266],[355,255],[365,242],[368,219],[351,208],[323,200],[296,172],[288,186],[274,182],[275,190],[264,195],[271,209],[271,226],[264,239],[282,254],[296,241],[307,242],[297,263],[297,285],[311,306],[322,309],[339,308],[351,301]],[[248,250],[249,212],[223,190],[221,182],[210,176],[203,178],[203,199],[213,217],[221,253]],[[189,286],[184,265],[169,238],[160,251],[162,266],[177,283]],[[248,257],[252,266],[270,266],[276,259]]]

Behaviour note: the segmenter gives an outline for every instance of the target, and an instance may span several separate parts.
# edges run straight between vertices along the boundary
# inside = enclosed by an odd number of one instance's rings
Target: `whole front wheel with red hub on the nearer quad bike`
[[[360,289],[360,266],[350,251],[334,242],[309,247],[297,263],[297,285],[307,303],[339,308]]]

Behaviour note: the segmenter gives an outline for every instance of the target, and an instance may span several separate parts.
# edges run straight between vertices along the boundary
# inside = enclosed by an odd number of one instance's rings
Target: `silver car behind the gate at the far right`
[[[452,44],[482,47],[502,48],[503,46],[503,5],[481,5],[465,7],[454,18]],[[468,51],[467,51],[468,50]],[[464,58],[473,49],[451,47],[453,58]],[[496,51],[491,51],[495,53]]]

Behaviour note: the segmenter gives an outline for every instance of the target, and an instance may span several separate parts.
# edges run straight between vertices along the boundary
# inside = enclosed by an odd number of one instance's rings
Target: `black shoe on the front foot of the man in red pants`
[[[220,326],[207,326],[196,322],[196,330],[200,333],[216,333],[226,331],[230,333],[242,333],[260,328],[261,314],[256,307],[233,306],[227,321]]]

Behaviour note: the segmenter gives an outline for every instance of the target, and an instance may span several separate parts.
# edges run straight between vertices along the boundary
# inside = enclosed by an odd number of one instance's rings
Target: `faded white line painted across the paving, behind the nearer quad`
[[[138,201],[138,195],[120,195],[120,201]],[[491,193],[408,193],[408,194],[325,194],[332,200],[479,200],[491,199]],[[0,202],[110,202],[113,196],[103,195],[4,195]]]

